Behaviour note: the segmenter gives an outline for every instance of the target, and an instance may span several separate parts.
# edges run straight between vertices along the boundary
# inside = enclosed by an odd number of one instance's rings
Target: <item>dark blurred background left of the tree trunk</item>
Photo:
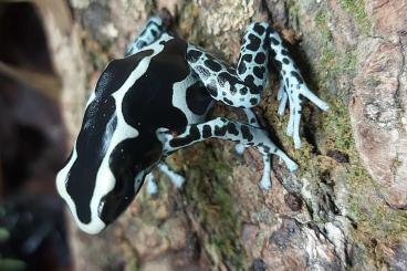
[[[66,131],[39,8],[0,2],[0,270],[70,270],[54,177]]]

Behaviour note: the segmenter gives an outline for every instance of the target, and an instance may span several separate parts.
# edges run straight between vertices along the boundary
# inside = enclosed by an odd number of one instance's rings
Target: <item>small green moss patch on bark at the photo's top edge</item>
[[[361,33],[368,34],[372,23],[367,17],[364,0],[341,0],[340,3],[354,18]]]

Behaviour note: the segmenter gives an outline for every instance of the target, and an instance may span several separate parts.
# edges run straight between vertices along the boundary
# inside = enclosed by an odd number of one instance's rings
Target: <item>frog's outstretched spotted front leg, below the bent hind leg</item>
[[[298,168],[298,165],[270,140],[265,131],[248,124],[232,122],[225,117],[218,117],[201,124],[188,125],[179,135],[175,135],[168,129],[158,129],[157,137],[164,145],[164,156],[210,137],[232,140],[243,146],[257,147],[264,160],[264,170],[260,183],[260,186],[264,189],[271,187],[271,155],[278,155],[283,159],[290,171]]]

